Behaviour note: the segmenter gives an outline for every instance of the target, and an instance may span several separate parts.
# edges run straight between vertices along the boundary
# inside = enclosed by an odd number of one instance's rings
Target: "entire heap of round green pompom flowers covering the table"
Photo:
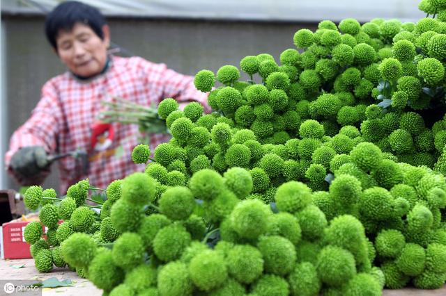
[[[42,211],[65,220],[59,258],[106,295],[442,286],[446,117],[429,108],[444,103],[446,6],[423,0],[420,9],[437,18],[301,29],[280,63],[269,54],[240,60],[246,82],[233,65],[198,72],[214,112],[164,99],[157,113],[171,141],[150,163],[149,147],[135,147],[145,172],[111,183],[100,215],[87,215],[74,191],[63,199],[73,206]],[[51,229],[55,220],[42,222]],[[65,223],[72,232],[59,240]],[[26,240],[48,244],[38,226]],[[36,266],[49,265],[54,254],[38,246],[45,264]]]

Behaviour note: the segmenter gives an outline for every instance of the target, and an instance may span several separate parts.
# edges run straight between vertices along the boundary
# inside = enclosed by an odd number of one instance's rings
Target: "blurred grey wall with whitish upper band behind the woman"
[[[66,71],[45,39],[45,14],[61,1],[1,1],[0,189],[20,186],[3,170],[9,138],[29,117],[40,88]],[[279,57],[294,48],[300,28],[314,31],[318,22],[353,17],[416,22],[424,17],[413,0],[108,0],[84,1],[107,17],[114,50],[165,63],[183,74],[217,71],[245,56]],[[56,163],[43,187],[58,190]],[[59,192],[63,194],[64,192]]]

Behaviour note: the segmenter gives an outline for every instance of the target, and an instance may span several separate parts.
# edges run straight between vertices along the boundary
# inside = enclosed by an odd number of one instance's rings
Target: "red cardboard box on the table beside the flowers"
[[[24,259],[32,258],[29,243],[25,241],[23,233],[30,221],[4,223],[0,231],[1,258]]]

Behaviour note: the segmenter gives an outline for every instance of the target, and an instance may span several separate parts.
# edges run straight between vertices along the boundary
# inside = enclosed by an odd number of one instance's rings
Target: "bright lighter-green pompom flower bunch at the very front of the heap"
[[[63,261],[105,295],[382,292],[384,275],[371,267],[360,221],[341,215],[328,226],[304,183],[279,186],[277,213],[248,197],[253,180],[240,167],[223,176],[200,170],[154,206],[157,182],[144,173],[122,180],[121,198],[102,220],[122,233],[112,249],[82,232],[61,242]],[[144,215],[148,207],[157,213]]]

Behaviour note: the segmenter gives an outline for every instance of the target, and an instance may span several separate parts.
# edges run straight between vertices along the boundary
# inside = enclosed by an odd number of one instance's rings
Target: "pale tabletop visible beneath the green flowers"
[[[22,265],[24,268],[12,268],[11,265]],[[68,268],[54,268],[49,273],[39,273],[34,267],[33,259],[0,260],[0,279],[37,279],[44,280],[50,277],[56,277],[59,280],[71,279],[72,286],[60,288],[45,288],[43,295],[88,295],[101,296],[102,290],[96,288],[91,281],[81,279],[76,272]],[[2,289],[2,287],[0,287]],[[383,291],[383,296],[445,296],[446,285],[438,290],[419,290],[415,288],[404,288],[400,290]]]

